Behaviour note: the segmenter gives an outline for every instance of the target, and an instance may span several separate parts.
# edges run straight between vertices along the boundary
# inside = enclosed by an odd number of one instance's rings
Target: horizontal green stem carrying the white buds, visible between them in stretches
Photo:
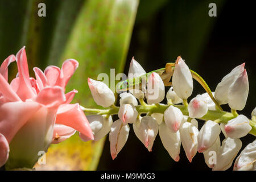
[[[143,102],[143,105],[138,105],[136,106],[136,109],[138,111],[139,114],[143,114],[143,113],[164,113],[164,111],[170,106],[175,106],[178,107],[181,112],[183,113],[183,115],[188,115],[188,109],[187,106],[185,105],[176,105],[176,104],[152,104],[152,105],[148,105],[146,104],[146,102]],[[86,113],[90,113],[90,114],[101,114],[101,115],[113,115],[113,114],[118,114],[118,110],[119,107],[115,106],[115,107],[110,107],[107,109],[90,109],[90,108],[84,108],[84,111]],[[217,123],[228,123],[228,121],[230,119],[236,118],[237,114],[236,113],[229,113],[226,111],[221,111],[221,110],[208,110],[207,114],[205,114],[203,117],[201,118],[197,118],[197,119],[201,119],[204,121],[208,121],[208,120],[212,120],[212,121],[216,121]],[[252,127],[250,134],[256,136],[256,121],[250,120],[250,126]]]

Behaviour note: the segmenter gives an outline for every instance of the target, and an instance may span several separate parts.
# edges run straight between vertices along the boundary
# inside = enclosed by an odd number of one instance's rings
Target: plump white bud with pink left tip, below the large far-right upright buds
[[[238,115],[238,117],[228,121],[225,125],[226,135],[230,138],[245,137],[251,131],[250,121],[245,115]]]

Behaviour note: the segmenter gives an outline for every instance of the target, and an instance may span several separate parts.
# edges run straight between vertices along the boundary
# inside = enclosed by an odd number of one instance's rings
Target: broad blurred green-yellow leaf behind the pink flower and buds
[[[68,58],[79,61],[79,68],[69,81],[67,91],[79,90],[75,102],[94,106],[87,78],[97,80],[99,73],[122,72],[129,48],[138,0],[88,0],[82,7],[60,64]],[[96,169],[105,138],[82,142],[78,135],[52,145],[47,164],[38,169]]]

